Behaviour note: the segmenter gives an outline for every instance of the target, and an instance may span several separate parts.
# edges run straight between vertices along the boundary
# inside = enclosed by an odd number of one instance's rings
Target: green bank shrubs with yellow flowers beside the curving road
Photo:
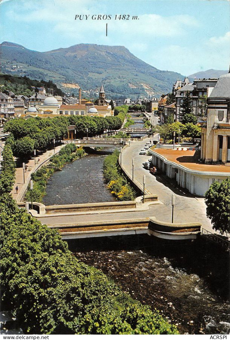
[[[111,193],[119,201],[134,201],[136,193],[128,184],[126,178],[121,173],[118,165],[119,151],[115,150],[112,155],[108,155],[103,164],[103,174]]]

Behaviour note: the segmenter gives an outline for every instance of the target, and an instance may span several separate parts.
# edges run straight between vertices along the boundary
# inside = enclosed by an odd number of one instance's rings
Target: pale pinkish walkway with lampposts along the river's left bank
[[[60,145],[55,148],[55,154],[57,154],[61,148],[63,148],[65,144]],[[17,202],[20,202],[24,196],[26,188],[30,182],[31,174],[40,168],[41,165],[44,165],[52,156],[54,155],[54,150],[48,150],[43,154],[36,156],[36,165],[34,162],[34,157],[30,159],[25,165],[27,165],[28,169],[25,171],[25,184],[23,184],[23,169],[22,166],[20,168],[16,168],[15,173],[15,184],[13,190],[11,191],[13,199]],[[38,162],[39,159],[39,162]],[[16,186],[18,186],[18,193],[16,193]]]

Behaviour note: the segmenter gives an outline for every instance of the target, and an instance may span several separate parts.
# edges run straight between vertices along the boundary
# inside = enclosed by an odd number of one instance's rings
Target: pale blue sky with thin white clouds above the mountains
[[[230,1],[0,0],[2,41],[40,52],[81,43],[120,45],[161,70],[228,70]]]

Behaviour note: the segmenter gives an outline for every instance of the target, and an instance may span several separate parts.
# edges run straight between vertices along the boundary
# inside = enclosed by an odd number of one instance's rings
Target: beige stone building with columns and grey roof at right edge
[[[230,163],[230,69],[207,99],[207,116],[201,122],[201,159]]]

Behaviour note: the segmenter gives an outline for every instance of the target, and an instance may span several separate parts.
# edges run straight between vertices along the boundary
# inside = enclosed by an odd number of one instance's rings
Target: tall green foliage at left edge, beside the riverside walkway
[[[6,145],[2,151],[0,191],[11,192],[15,182],[15,162],[11,147]]]

